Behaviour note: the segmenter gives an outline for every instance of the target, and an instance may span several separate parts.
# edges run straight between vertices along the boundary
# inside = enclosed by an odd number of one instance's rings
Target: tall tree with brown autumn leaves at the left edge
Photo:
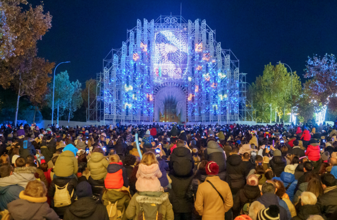
[[[36,57],[37,41],[51,27],[49,12],[43,5],[29,5],[24,11],[20,4],[26,0],[1,0],[0,4],[0,85],[18,94],[15,113],[17,124],[20,97],[35,99],[47,89],[54,63]],[[38,99],[38,98],[36,98]]]

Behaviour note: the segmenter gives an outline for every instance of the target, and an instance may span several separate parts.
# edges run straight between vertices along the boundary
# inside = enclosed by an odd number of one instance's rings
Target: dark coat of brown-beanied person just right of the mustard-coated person
[[[252,203],[259,197],[261,197],[261,191],[258,185],[251,186],[247,184],[243,189],[240,189],[233,201],[234,218],[240,215],[240,211],[246,203]]]

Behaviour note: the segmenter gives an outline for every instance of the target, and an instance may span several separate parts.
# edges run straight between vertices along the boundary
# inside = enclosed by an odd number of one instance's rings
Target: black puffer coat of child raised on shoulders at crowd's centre
[[[177,147],[172,151],[169,160],[169,168],[174,176],[192,176],[194,161],[190,149]]]

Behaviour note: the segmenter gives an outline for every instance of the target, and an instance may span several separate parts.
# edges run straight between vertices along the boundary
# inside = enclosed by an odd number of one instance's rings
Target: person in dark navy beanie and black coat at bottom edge
[[[82,181],[77,185],[76,195],[78,200],[67,208],[63,220],[109,220],[105,205],[93,198],[88,182]]]

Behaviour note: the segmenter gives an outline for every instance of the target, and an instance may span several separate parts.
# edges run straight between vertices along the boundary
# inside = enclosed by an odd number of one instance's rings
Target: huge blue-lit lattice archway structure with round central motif
[[[205,20],[160,16],[143,25],[137,20],[127,36],[122,48],[104,59],[105,120],[159,121],[169,96],[182,122],[239,120],[239,61],[215,42]]]

